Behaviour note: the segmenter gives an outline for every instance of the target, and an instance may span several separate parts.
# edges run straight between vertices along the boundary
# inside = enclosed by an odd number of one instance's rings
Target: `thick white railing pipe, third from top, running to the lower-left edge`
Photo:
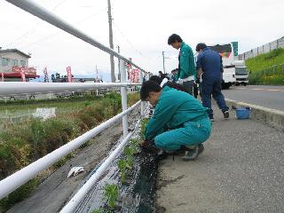
[[[50,154],[46,154],[43,158],[37,160],[29,164],[27,167],[15,172],[9,177],[4,178],[0,181],[0,200],[4,198],[9,193],[12,193],[15,189],[20,187],[28,182],[29,179],[32,177],[36,177],[36,175],[51,166],[54,162],[58,162],[60,158],[66,156],[67,154],[71,153],[73,150],[78,148],[79,146],[83,145],[86,141],[93,138],[94,136],[98,135],[99,132],[106,130],[114,122],[117,122],[121,119],[125,114],[129,114],[135,107],[140,104],[141,101],[138,101],[133,106],[130,106],[129,109],[122,112],[121,114],[115,115],[113,118],[107,120],[99,124],[99,126],[95,127],[92,130],[87,131],[82,136],[73,139],[69,143],[64,146],[59,147],[58,149],[54,150]]]

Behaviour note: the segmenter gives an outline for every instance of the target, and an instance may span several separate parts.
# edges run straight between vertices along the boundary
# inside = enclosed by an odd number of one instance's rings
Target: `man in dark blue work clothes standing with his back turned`
[[[225,104],[224,95],[221,92],[223,65],[220,55],[212,51],[205,43],[198,43],[196,51],[197,57],[197,78],[202,75],[201,99],[202,105],[209,108],[209,118],[214,121],[213,110],[211,108],[211,96],[217,101],[217,106],[222,110],[225,118],[229,117],[229,107]]]

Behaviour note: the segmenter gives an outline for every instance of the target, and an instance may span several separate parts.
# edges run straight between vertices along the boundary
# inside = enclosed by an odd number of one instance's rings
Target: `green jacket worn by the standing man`
[[[179,51],[179,75],[178,78],[187,78],[191,75],[196,75],[196,67],[193,57],[192,48],[186,43],[181,43]]]

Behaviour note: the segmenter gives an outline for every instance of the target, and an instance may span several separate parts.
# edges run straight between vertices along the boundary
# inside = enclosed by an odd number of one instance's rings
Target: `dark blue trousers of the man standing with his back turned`
[[[201,82],[202,105],[209,108],[209,118],[213,118],[211,96],[216,100],[217,106],[223,113],[229,109],[229,107],[225,104],[224,95],[221,92],[221,79],[206,79]]]

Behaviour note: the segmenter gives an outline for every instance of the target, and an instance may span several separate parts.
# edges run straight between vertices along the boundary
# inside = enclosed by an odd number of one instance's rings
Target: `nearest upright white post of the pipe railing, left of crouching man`
[[[121,65],[121,83],[126,83],[126,68],[125,63],[122,59],[120,60]],[[121,87],[121,95],[122,95],[122,111],[127,109],[127,90],[126,87]],[[122,127],[123,127],[123,138],[128,135],[128,119],[127,114],[122,117]]]

